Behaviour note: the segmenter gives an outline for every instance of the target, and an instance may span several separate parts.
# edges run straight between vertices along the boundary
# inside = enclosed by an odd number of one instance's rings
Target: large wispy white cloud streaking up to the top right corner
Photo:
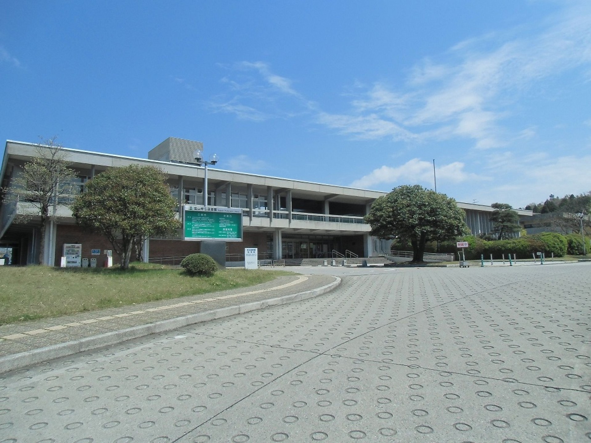
[[[525,135],[503,125],[512,103],[537,82],[591,64],[590,12],[589,6],[574,5],[530,37],[496,33],[460,42],[444,54],[451,61],[426,58],[398,89],[375,83],[352,100],[350,112],[335,119],[324,113],[318,122],[357,138],[405,132],[423,141],[471,139],[477,149],[505,146]],[[352,129],[333,125],[347,117]]]

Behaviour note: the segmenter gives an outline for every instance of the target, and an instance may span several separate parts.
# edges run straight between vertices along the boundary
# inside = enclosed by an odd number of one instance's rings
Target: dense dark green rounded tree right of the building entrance
[[[453,198],[420,185],[402,185],[375,200],[365,221],[373,236],[409,240],[417,263],[423,262],[427,242],[466,234],[465,217]]]

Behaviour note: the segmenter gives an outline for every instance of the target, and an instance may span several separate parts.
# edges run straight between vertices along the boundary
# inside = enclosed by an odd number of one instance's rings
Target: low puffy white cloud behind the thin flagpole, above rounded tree
[[[447,183],[462,183],[467,180],[488,180],[464,171],[462,162],[452,162],[436,167],[437,181]],[[427,183],[433,184],[433,163],[418,158],[413,158],[399,167],[382,166],[370,172],[368,175],[353,181],[355,188],[372,188],[379,184],[397,183]]]

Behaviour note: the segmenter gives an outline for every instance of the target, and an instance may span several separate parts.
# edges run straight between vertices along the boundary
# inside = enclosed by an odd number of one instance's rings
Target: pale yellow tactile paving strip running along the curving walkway
[[[174,308],[180,308],[180,307],[188,306],[188,305],[192,305],[192,304],[204,303],[206,301],[216,301],[216,300],[223,300],[223,299],[228,299],[228,298],[236,298],[236,297],[242,297],[243,295],[262,294],[262,292],[276,291],[277,289],[288,288],[289,286],[303,283],[307,279],[308,279],[307,276],[300,275],[293,282],[289,282],[289,283],[286,283],[286,284],[280,285],[280,286],[275,286],[274,288],[259,289],[258,291],[241,292],[239,294],[223,295],[221,297],[216,297],[216,298],[205,298],[205,299],[201,299],[201,300],[181,302],[181,303],[176,303],[173,305],[160,306],[157,308],[148,308],[143,311],[125,312],[124,314],[114,314],[114,315],[108,315],[106,317],[91,318],[89,320],[80,320],[80,321],[75,321],[73,323],[66,323],[66,324],[57,325],[57,326],[49,326],[47,328],[35,329],[33,331],[25,331],[22,334],[4,335],[4,337],[0,337],[0,341],[2,341],[2,340],[17,340],[17,338],[30,337],[31,335],[37,335],[37,334],[51,332],[51,331],[59,331],[61,329],[82,326],[83,324],[97,323],[98,321],[113,320],[115,318],[121,318],[121,317],[131,317],[132,315],[145,314],[147,312],[164,311],[167,309],[174,309]]]

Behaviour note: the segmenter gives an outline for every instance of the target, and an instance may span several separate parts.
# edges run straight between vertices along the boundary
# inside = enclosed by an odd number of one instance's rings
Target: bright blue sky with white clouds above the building
[[[0,139],[524,207],[591,191],[591,2],[0,0]]]

